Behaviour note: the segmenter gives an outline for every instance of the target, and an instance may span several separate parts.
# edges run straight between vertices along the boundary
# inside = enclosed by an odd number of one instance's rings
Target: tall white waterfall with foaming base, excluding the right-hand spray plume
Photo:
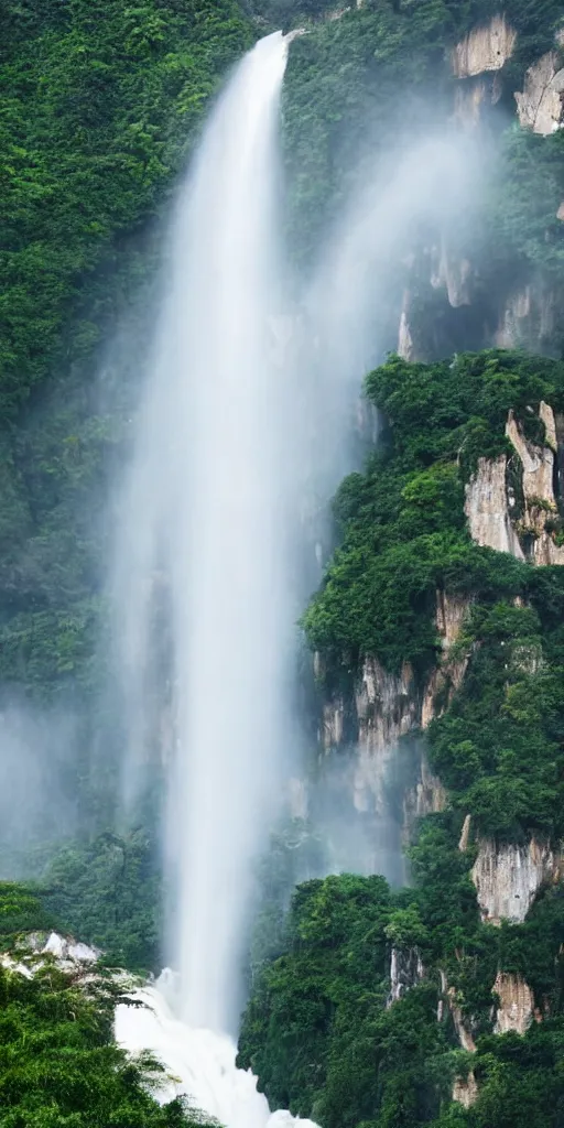
[[[118,1011],[117,1037],[156,1049],[228,1128],[270,1117],[255,1079],[235,1068],[228,1032],[241,1003],[252,861],[277,791],[292,625],[275,237],[287,51],[277,33],[241,61],[180,194],[114,581],[130,802],[155,740],[157,606],[168,622],[168,950],[179,985],[174,1017],[148,992],[151,1010]],[[276,1116],[268,1122],[294,1122]]]

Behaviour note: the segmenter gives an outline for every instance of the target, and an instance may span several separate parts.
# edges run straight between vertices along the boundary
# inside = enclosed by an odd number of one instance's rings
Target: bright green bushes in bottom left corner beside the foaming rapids
[[[52,923],[25,889],[0,884],[0,949]],[[16,949],[17,950],[17,949]],[[113,1011],[126,988],[102,975],[85,980],[51,957],[24,975],[0,961],[0,1123],[2,1128],[196,1128],[209,1123],[180,1099],[151,1096],[161,1067],[132,1059],[113,1039]],[[211,1126],[210,1126],[211,1128]]]

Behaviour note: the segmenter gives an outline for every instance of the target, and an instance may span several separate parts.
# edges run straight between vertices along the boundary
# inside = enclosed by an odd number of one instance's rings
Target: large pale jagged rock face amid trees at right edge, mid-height
[[[525,437],[512,412],[505,426],[505,435],[522,469],[522,512],[518,513],[517,500],[508,487],[505,455],[478,459],[477,472],[466,487],[465,512],[470,535],[478,545],[511,553],[517,559],[528,558],[537,565],[564,564],[564,547],[555,539],[555,529],[559,527],[554,492],[558,441],[554,412],[548,404],[540,404],[538,421],[544,424],[543,443]]]

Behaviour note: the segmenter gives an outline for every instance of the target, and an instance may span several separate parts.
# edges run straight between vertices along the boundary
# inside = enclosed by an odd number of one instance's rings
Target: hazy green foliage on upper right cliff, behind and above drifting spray
[[[460,85],[452,77],[451,49],[500,15],[495,0],[365,0],[334,10],[338,18],[308,26],[294,43],[285,81],[291,227],[296,253],[306,262],[327,219],[338,217],[360,156],[361,175],[371,176],[391,148],[413,147],[414,133],[449,130]],[[555,46],[562,8],[557,0],[509,0],[503,12],[518,38],[499,76],[502,112],[484,131],[492,129],[496,139],[483,158],[495,168],[492,197],[482,201],[479,238],[473,228],[465,248],[470,261],[479,256],[482,290],[514,285],[530,264],[554,263],[562,253],[556,220],[562,144],[557,136],[515,136],[512,130],[503,135],[526,69]],[[297,10],[294,19],[299,16]],[[544,250],[543,220],[550,231]]]

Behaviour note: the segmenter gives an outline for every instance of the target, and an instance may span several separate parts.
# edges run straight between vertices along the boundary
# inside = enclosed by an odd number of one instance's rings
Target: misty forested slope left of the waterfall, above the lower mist
[[[73,811],[60,827],[38,818],[39,843],[113,825],[109,484],[148,351],[162,217],[210,98],[256,34],[237,0],[2,9],[0,707],[36,722],[33,756],[52,763],[45,812],[56,795]],[[5,854],[23,835],[9,800],[0,810]]]

